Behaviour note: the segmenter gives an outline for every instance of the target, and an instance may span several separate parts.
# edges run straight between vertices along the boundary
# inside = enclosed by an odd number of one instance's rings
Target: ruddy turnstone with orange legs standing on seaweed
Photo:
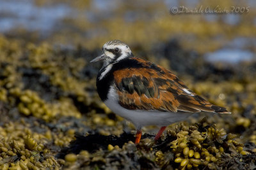
[[[102,50],[102,55],[91,61],[104,62],[97,76],[97,91],[109,109],[135,125],[135,143],[140,142],[145,125],[161,126],[157,140],[166,125],[193,113],[230,113],[196,95],[168,69],[134,57],[122,41],[108,41]]]

